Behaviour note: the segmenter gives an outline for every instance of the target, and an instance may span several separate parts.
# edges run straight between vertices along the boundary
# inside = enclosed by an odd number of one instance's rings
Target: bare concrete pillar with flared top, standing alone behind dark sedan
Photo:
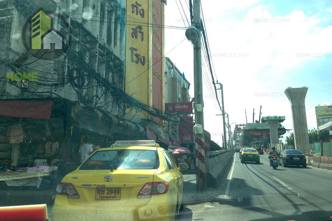
[[[307,87],[301,87],[287,88],[284,91],[292,107],[295,149],[300,150],[302,153],[310,150],[304,102],[307,90]]]

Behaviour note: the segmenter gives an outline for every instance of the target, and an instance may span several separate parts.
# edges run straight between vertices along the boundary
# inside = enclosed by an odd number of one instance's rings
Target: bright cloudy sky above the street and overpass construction
[[[181,4],[189,19],[188,0],[169,0],[165,26],[189,26]],[[223,84],[231,130],[235,124],[246,123],[245,110],[248,122],[252,122],[253,109],[258,120],[262,106],[262,116],[286,116],[282,125],[292,132],[291,105],[284,91],[303,86],[308,87],[307,126],[309,130],[317,129],[315,106],[332,104],[330,1],[202,1],[201,10],[214,77]],[[193,97],[193,45],[187,39],[182,41],[183,29],[164,31],[165,57],[184,72]],[[203,52],[202,56],[204,129],[221,145],[223,121],[217,115],[221,111]],[[220,90],[218,99],[221,102]],[[284,134],[282,140],[288,135]]]

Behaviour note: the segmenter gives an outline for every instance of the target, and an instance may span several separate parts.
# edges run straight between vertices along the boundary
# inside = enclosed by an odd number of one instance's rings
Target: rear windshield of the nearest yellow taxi
[[[79,169],[157,169],[159,157],[152,150],[107,150],[91,155]]]

